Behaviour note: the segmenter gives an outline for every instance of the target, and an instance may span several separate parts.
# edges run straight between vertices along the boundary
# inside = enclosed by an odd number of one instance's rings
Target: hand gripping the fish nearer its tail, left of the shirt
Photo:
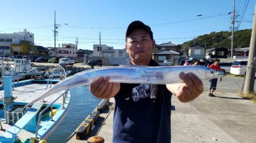
[[[98,98],[114,97],[120,90],[119,83],[109,83],[109,77],[98,77],[90,84],[90,92]]]

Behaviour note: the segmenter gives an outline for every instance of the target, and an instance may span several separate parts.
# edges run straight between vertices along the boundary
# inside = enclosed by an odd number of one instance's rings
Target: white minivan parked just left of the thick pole
[[[234,75],[246,75],[248,60],[234,60],[230,73]]]

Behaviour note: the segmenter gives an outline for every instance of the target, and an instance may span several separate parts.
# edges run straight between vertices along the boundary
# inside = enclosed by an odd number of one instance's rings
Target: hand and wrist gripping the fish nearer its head
[[[181,102],[189,102],[203,93],[203,82],[193,73],[180,73],[180,79],[184,81],[182,84],[168,84],[167,89]]]

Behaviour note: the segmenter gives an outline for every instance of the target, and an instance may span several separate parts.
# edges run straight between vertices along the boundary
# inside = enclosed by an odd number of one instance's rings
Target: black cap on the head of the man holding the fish
[[[138,21],[138,20],[130,23],[130,25],[128,26],[127,31],[126,31],[126,37],[132,31],[134,31],[134,29],[137,29],[137,28],[141,28],[141,29],[144,29],[145,31],[147,31],[150,34],[151,40],[153,39],[153,32],[151,31],[151,28],[148,25],[144,24],[142,21]]]

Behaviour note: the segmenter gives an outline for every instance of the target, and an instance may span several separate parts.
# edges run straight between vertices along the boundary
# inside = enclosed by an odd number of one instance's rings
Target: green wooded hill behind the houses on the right
[[[207,45],[207,49],[213,47],[226,47],[231,49],[231,36],[232,32],[221,31],[221,32],[211,32],[210,34],[204,34],[202,36],[198,36],[195,41],[199,42],[200,45]],[[236,31],[234,33],[234,48],[237,47],[249,47],[251,40],[251,29],[244,29],[240,31]],[[188,49],[189,46],[194,44],[194,40],[184,42],[182,47]]]

